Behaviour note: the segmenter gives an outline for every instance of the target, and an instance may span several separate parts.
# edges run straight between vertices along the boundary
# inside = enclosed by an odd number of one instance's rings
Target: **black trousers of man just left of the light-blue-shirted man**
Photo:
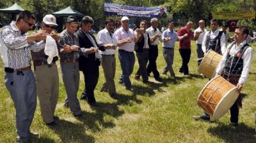
[[[160,74],[156,69],[156,58],[158,58],[158,46],[151,45],[148,49],[148,65],[147,65],[147,74],[149,75],[151,72],[154,74],[154,78],[158,79]]]

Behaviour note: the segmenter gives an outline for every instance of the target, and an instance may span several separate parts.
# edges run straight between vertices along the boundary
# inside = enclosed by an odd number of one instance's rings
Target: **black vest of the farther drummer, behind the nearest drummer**
[[[219,31],[218,36],[216,36],[214,39],[210,39],[210,32],[212,32],[212,31],[209,31],[209,33],[207,35],[207,43],[205,45],[206,52],[208,52],[210,49],[212,49],[212,51],[221,54],[220,39],[221,39],[223,31]]]

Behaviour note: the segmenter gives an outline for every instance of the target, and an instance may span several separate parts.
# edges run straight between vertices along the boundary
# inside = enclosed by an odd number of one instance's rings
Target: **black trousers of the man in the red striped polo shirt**
[[[191,56],[191,49],[179,49],[180,56],[182,58],[182,65],[180,67],[180,72],[187,75],[188,71],[188,62]]]

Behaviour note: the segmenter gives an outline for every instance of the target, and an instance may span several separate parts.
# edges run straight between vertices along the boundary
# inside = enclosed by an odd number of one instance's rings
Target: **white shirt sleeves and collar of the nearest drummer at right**
[[[228,48],[227,48],[227,49],[230,49],[229,54],[231,56],[234,56],[234,54],[237,54],[237,52],[240,51],[240,49],[245,44],[246,44],[246,40],[243,41],[240,45],[238,45],[238,47],[236,47],[236,43],[233,44],[232,47],[231,47],[232,44],[229,44]],[[243,53],[243,55],[242,55],[243,70],[242,70],[242,74],[241,74],[241,77],[240,77],[238,83],[244,84],[247,81],[248,75],[250,72],[250,68],[251,68],[251,63],[253,62],[253,54],[254,54],[253,48],[251,48],[251,47],[247,48],[247,50]],[[221,74],[223,72],[227,57],[228,57],[228,50],[226,50],[226,52],[223,54],[221,61],[217,66],[216,73]]]

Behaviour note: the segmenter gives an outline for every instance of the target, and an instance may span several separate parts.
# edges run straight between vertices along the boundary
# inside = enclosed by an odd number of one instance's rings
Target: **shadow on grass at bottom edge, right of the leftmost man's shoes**
[[[51,129],[59,135],[61,142],[95,142],[93,136],[85,133],[84,126],[67,120],[58,120]]]

